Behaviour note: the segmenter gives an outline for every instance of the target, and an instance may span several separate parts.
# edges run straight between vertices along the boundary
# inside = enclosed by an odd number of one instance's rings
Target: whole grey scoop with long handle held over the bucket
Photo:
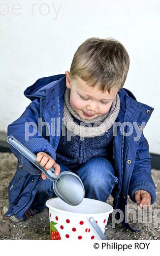
[[[82,202],[85,190],[78,175],[73,172],[64,171],[57,176],[54,167],[45,170],[44,167],[40,166],[36,161],[36,156],[16,138],[10,135],[7,137],[7,142],[38,167],[48,179],[53,181],[55,194],[64,202],[72,206],[76,206]],[[38,172],[38,175],[41,175],[41,172]]]

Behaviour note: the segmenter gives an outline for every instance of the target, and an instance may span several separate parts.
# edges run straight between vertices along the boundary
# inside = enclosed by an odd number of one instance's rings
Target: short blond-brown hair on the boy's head
[[[70,66],[70,78],[80,77],[89,86],[110,93],[124,86],[129,69],[125,47],[114,38],[91,37],[76,50]]]

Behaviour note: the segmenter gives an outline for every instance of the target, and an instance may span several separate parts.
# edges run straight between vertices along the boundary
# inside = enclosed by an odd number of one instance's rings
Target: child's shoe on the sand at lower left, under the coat
[[[2,218],[3,218],[3,219],[9,220],[9,221],[11,221],[11,222],[23,222],[23,221],[26,221],[27,219],[29,219],[30,216],[33,216],[34,214],[39,213],[38,210],[29,208],[29,209],[25,212],[25,214],[24,214],[20,219],[18,219],[18,218],[16,217],[16,215],[13,215],[13,216],[4,216],[4,214],[8,211],[8,208],[9,208],[9,205],[3,206],[3,208],[1,209],[1,215],[2,215]]]

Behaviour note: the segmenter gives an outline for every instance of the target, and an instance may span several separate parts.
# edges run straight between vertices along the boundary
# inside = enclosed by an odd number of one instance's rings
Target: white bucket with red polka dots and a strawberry
[[[79,205],[71,206],[55,197],[47,200],[46,206],[49,208],[51,240],[106,239],[105,228],[109,214],[113,212],[110,204],[84,198]]]

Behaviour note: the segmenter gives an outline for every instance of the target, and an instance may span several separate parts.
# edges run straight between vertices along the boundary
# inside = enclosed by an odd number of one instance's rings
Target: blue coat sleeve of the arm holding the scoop
[[[39,100],[39,98],[34,99],[26,108],[24,113],[17,120],[8,125],[7,135],[14,136],[35,155],[38,152],[45,152],[55,160],[56,153],[52,145],[43,136],[38,136]],[[31,124],[28,128],[26,128],[27,123]],[[32,134],[32,136],[28,136],[30,134]],[[18,159],[19,164],[21,164],[30,173],[37,172],[37,167],[30,160],[24,157],[10,144],[9,147]]]

